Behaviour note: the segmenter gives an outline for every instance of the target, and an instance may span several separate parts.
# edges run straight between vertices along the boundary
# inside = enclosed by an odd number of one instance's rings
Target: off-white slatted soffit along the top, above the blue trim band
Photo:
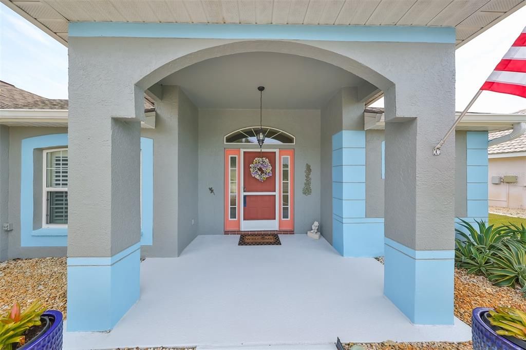
[[[67,45],[68,22],[454,26],[457,47],[526,0],[1,0]]]

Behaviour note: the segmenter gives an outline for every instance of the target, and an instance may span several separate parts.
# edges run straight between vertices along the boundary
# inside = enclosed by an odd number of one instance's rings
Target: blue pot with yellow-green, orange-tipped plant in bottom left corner
[[[62,349],[62,313],[44,311],[36,301],[21,312],[15,303],[5,317],[0,317],[0,350]]]

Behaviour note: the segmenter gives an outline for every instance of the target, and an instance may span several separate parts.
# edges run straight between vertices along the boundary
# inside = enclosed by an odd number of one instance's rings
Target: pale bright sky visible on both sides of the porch
[[[457,50],[456,109],[462,110],[526,26],[526,7]],[[0,4],[0,80],[47,98],[67,98],[67,49]],[[383,101],[374,106],[383,106]],[[511,113],[526,99],[484,91],[470,111]]]

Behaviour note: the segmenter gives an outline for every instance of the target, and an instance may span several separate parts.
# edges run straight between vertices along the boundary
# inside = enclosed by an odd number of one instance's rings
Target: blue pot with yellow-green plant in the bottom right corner
[[[526,349],[526,313],[511,307],[477,307],[471,332],[474,350]]]

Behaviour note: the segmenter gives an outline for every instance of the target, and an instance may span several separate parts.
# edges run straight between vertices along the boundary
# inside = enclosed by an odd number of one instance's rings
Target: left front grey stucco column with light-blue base
[[[106,331],[139,297],[142,94],[125,65],[69,44],[67,331]]]

